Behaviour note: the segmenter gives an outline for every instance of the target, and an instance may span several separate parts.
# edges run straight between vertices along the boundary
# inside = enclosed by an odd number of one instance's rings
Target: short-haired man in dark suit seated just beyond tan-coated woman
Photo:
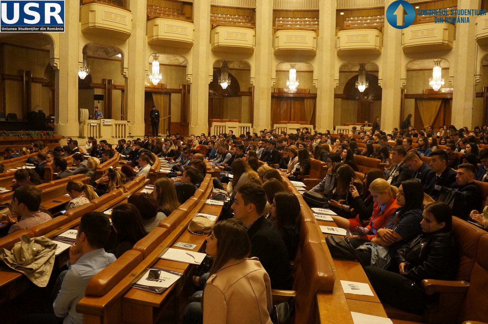
[[[293,276],[285,242],[280,232],[263,216],[266,194],[256,183],[245,183],[237,191],[232,210],[244,223],[251,240],[251,256],[259,258],[269,275],[271,288],[291,289]]]

